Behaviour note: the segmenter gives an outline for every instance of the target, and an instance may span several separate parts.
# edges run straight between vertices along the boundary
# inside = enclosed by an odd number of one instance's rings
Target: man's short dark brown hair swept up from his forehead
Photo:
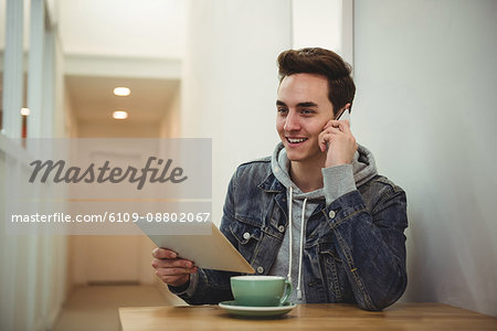
[[[278,55],[279,83],[293,74],[318,74],[328,79],[328,98],[334,105],[335,115],[347,103],[352,107],[356,84],[351,77],[352,67],[337,53],[307,47],[288,50]]]

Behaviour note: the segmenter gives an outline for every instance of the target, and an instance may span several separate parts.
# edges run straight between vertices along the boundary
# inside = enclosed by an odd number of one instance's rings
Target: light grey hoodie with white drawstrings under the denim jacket
[[[283,143],[278,143],[273,153],[271,166],[276,179],[287,189],[288,231],[279,248],[269,275],[285,276],[292,281],[294,291],[289,298],[290,302],[302,303],[305,295],[302,293],[302,258],[303,258],[303,235],[307,220],[310,217],[319,202],[326,199],[329,205],[339,196],[355,191],[377,174],[372,153],[359,145],[358,151],[353,156],[351,164],[343,164],[330,168],[322,168],[324,188],[304,193],[292,181],[289,177],[289,160]]]

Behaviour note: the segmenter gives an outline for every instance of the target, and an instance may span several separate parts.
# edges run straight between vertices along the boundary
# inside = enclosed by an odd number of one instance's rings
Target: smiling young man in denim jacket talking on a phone
[[[241,164],[228,190],[221,231],[258,275],[287,276],[292,302],[353,302],[381,310],[406,286],[405,193],[379,175],[347,120],[350,67],[322,49],[278,56],[273,157]],[[152,266],[189,303],[232,300],[233,273],[198,269],[155,249]]]

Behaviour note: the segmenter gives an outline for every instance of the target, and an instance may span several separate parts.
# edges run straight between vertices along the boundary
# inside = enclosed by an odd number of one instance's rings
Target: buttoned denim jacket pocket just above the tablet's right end
[[[262,237],[261,226],[256,226],[254,223],[236,218],[230,224],[230,231],[236,239],[236,248],[248,263],[252,263]]]

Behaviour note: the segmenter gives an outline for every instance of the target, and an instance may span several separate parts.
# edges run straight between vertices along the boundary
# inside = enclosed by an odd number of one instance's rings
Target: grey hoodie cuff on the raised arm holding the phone
[[[341,195],[357,190],[352,169],[352,164],[321,169],[327,205],[331,204],[331,202]]]

